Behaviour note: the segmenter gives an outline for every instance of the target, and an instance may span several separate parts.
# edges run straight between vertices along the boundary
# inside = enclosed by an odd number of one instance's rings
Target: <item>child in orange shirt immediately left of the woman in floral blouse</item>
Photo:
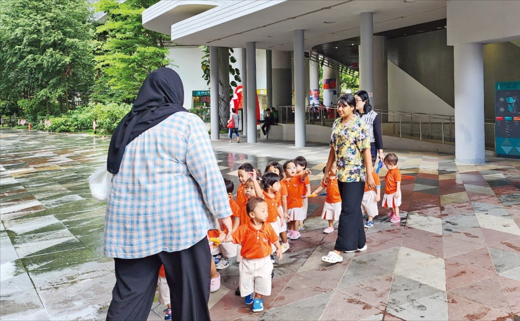
[[[323,174],[325,174],[325,169],[326,167],[323,167]],[[330,168],[329,183],[327,185],[323,185],[323,182],[321,182],[320,186],[313,192],[312,195],[319,194],[319,192],[323,191],[323,189],[327,189],[327,196],[325,197],[325,203],[323,204],[321,218],[329,221],[329,226],[323,230],[323,233],[332,233],[334,232],[334,221],[340,219],[341,213],[341,195],[340,188],[337,185],[336,162],[332,163]]]

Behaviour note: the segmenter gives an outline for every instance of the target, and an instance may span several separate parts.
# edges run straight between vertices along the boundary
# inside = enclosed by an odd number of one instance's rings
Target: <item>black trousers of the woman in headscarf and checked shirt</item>
[[[204,237],[192,247],[115,262],[115,286],[107,320],[146,320],[161,264],[170,286],[173,320],[210,320],[211,253]]]

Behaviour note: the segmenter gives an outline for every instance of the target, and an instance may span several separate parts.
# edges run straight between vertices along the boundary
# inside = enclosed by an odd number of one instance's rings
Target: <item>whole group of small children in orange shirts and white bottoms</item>
[[[401,203],[401,174],[397,168],[397,156],[388,154],[384,158],[388,172],[386,174],[383,207],[391,207],[391,222],[399,222],[399,205]],[[310,192],[310,170],[303,156],[288,160],[283,166],[278,162],[270,162],[264,175],[249,163],[238,169],[239,186],[236,199],[232,193],[235,188],[232,181],[224,179],[232,210],[233,226],[231,237],[226,238],[227,231],[212,230],[208,233],[210,248],[214,260],[211,269],[211,288],[214,292],[220,287],[220,274],[217,270],[229,265],[228,259],[237,257],[239,262],[239,288],[237,295],[244,298],[245,304],[252,304],[253,312],[264,310],[263,297],[271,293],[271,278],[274,276],[274,255],[281,260],[283,253],[290,248],[288,239],[301,237],[300,231],[305,229],[307,217],[307,197],[317,196],[327,189],[322,218],[328,220],[324,233],[334,231],[334,221],[339,220],[341,213],[341,197],[336,178],[336,166],[333,164],[329,173],[329,183],[321,184],[313,193]],[[323,172],[325,168],[323,168]],[[365,227],[371,228],[373,218],[378,215],[380,200],[379,175],[372,172],[376,182],[373,190],[365,187],[362,211],[367,213]],[[268,223],[268,224],[267,224]],[[163,277],[163,276],[162,276]],[[159,280],[159,303],[170,304],[161,296],[162,287],[166,284]],[[167,286],[167,284],[166,284]],[[163,291],[169,291],[163,289]],[[171,319],[171,310],[166,309],[165,320]],[[168,314],[170,313],[170,314]]]

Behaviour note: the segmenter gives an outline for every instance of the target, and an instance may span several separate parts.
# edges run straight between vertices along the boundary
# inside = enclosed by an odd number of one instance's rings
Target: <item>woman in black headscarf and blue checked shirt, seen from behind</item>
[[[107,320],[148,318],[161,264],[172,319],[210,319],[207,231],[218,220],[230,232],[231,209],[206,127],[183,101],[175,71],[151,72],[110,141],[104,239],[115,286]]]

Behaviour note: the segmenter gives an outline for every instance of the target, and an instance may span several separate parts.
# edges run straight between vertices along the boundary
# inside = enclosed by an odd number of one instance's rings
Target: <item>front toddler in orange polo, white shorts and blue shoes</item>
[[[271,295],[272,253],[274,244],[278,260],[281,260],[282,249],[278,235],[270,224],[268,206],[263,198],[254,197],[248,201],[247,210],[251,220],[242,224],[233,232],[233,243],[240,243],[242,261],[239,265],[240,296],[245,304],[253,304],[253,312],[264,310],[264,296]]]

